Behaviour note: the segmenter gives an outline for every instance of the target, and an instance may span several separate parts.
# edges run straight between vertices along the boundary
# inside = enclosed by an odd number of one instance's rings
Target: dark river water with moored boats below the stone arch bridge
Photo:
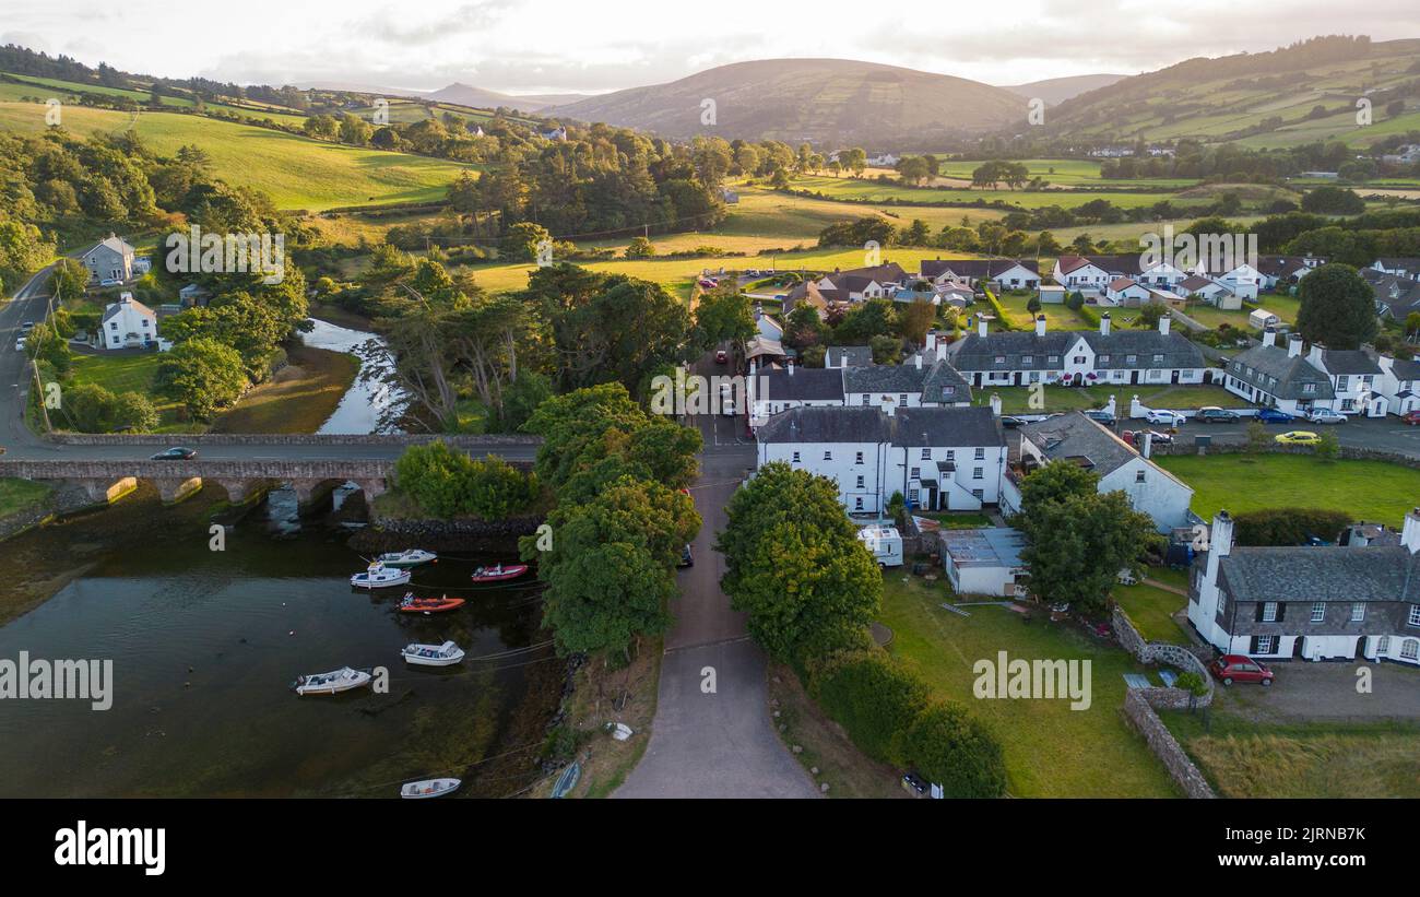
[[[318,325],[312,345],[344,339],[337,331]],[[342,403],[327,427],[361,426],[359,414]],[[390,798],[436,775],[463,778],[464,796],[506,796],[538,778],[564,664],[544,644],[535,579],[473,586],[473,568],[493,558],[449,555],[417,568],[413,590],[467,603],[403,615],[403,588],[348,585],[364,561],[335,517],[300,518],[290,490],[244,514],[213,492],[165,508],[143,484],[0,542],[0,660],[28,651],[114,670],[105,711],[0,701],[0,796]],[[214,514],[224,551],[212,549]],[[399,657],[410,642],[449,639],[467,654],[459,667]],[[388,694],[290,690],[342,666],[386,667]]]

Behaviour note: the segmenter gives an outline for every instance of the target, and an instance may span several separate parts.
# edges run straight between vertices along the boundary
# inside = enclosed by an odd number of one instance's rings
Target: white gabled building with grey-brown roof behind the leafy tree
[[[1079,464],[1099,474],[1100,494],[1123,492],[1129,507],[1147,514],[1159,532],[1189,524],[1193,488],[1081,412],[1028,423],[1020,433],[1027,475],[1051,461]],[[1020,492],[1010,478],[1003,494],[1003,512],[1018,511]]]

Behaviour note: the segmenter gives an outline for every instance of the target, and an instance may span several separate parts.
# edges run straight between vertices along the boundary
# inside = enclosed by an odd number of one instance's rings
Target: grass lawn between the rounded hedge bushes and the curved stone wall
[[[1176,796],[1169,774],[1119,708],[1125,673],[1143,673],[1113,644],[1095,642],[1044,619],[1027,623],[1005,607],[971,607],[963,617],[943,610],[951,599],[943,580],[926,582],[893,571],[883,582],[882,622],[896,637],[890,650],[913,661],[933,691],[966,704],[1001,741],[1008,791],[1031,798]],[[1068,700],[977,700],[977,660],[1010,657],[1092,661],[1092,703]],[[1156,674],[1150,676],[1157,681]]]

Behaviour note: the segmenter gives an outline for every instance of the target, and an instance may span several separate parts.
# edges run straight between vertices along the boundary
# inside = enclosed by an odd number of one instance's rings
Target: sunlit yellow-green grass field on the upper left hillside
[[[217,176],[263,190],[278,209],[439,200],[459,173],[470,167],[173,112],[135,116],[74,106],[64,109],[64,126],[78,135],[135,128],[159,153],[197,143],[212,156]],[[0,102],[0,129],[33,133],[44,128],[44,106]]]

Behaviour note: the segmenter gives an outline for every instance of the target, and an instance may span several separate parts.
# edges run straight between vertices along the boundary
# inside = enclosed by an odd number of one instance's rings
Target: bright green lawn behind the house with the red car
[[[1304,505],[1345,511],[1400,528],[1420,495],[1420,470],[1384,461],[1326,461],[1296,454],[1157,456],[1154,461],[1193,487],[1193,511],[1211,519],[1218,508],[1237,514]]]

